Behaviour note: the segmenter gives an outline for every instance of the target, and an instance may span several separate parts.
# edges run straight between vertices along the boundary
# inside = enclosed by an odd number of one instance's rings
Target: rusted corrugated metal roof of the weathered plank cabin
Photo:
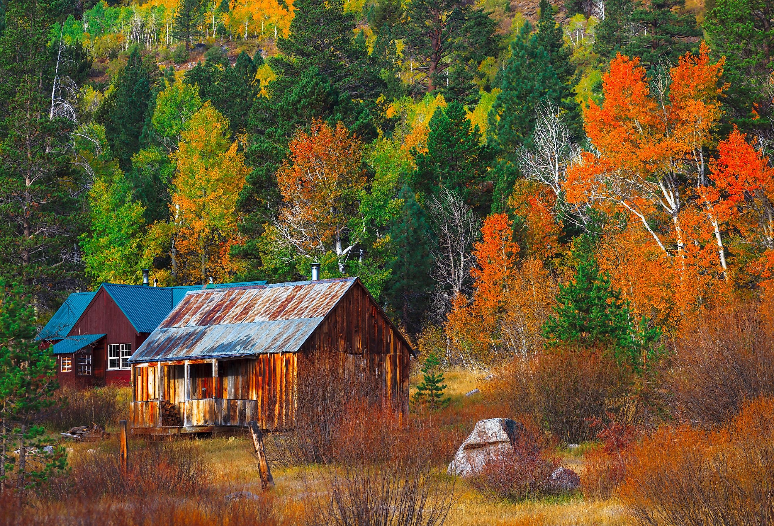
[[[129,361],[295,352],[356,280],[187,292]]]

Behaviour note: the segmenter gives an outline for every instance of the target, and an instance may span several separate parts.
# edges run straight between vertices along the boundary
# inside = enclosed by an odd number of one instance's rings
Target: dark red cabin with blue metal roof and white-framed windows
[[[265,282],[218,283],[222,287]],[[74,292],[57,309],[38,339],[57,359],[61,385],[128,385],[128,360],[183,296],[202,285],[150,287],[102,283],[94,292]]]

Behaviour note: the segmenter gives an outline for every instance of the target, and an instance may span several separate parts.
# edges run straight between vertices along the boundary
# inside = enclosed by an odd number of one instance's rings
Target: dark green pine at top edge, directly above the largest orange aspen
[[[677,63],[685,53],[696,49],[701,36],[696,17],[685,9],[685,0],[639,2],[632,13],[639,32],[624,46],[624,54],[639,56],[642,65],[653,69],[661,62]]]

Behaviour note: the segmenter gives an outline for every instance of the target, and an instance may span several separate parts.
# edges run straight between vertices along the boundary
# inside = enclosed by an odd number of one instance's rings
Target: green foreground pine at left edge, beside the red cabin
[[[0,484],[15,488],[19,504],[67,459],[63,447],[42,449],[46,429],[39,422],[43,409],[56,403],[57,362],[35,340],[35,309],[23,289],[0,279]],[[11,462],[14,449],[19,456]],[[31,453],[35,463],[28,463]]]

